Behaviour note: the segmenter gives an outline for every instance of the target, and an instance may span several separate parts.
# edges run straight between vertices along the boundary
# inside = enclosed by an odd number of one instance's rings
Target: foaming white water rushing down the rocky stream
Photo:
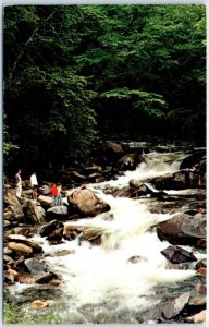
[[[194,286],[194,270],[168,269],[168,262],[160,252],[170,244],[161,242],[155,228],[150,228],[170,219],[172,214],[151,213],[153,199],[148,197],[132,199],[106,194],[127,186],[133,178],[147,182],[150,178],[174,172],[184,157],[183,152],[147,154],[144,155],[145,162],[135,171],[127,171],[116,180],[87,185],[109,203],[111,210],[95,218],[67,221],[65,226],[99,231],[101,245],[88,241],[79,243],[78,240],[49,245],[45,238],[33,238],[42,246],[49,270],[63,280],[59,294],[46,295],[51,307],[62,304],[61,322],[140,323],[145,319],[151,323],[169,299]],[[170,190],[168,193],[180,195],[185,191]],[[183,247],[192,251],[189,246]],[[61,250],[72,253],[56,255]],[[201,256],[198,252],[195,255]],[[130,261],[133,257],[137,262]],[[28,290],[28,286],[19,284],[13,292],[26,294]],[[24,310],[28,314],[29,307]]]

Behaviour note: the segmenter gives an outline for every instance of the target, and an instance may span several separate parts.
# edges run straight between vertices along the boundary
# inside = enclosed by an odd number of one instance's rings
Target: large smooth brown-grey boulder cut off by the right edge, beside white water
[[[167,240],[171,244],[194,245],[206,247],[206,216],[176,214],[167,221],[157,225],[160,240]]]

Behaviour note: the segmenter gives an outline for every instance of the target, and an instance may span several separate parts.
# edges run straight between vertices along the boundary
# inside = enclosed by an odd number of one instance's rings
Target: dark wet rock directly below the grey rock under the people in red
[[[40,230],[42,238],[47,237],[47,240],[61,240],[63,237],[64,225],[58,220],[52,220],[45,225]]]

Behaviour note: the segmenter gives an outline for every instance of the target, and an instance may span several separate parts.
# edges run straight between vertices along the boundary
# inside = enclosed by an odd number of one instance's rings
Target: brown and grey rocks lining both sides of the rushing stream
[[[59,244],[65,240],[89,241],[93,245],[100,245],[101,232],[75,228],[65,221],[73,221],[84,217],[96,217],[109,211],[109,204],[88,190],[88,183],[99,183],[113,175],[121,174],[124,170],[133,170],[143,161],[140,153],[124,153],[123,147],[114,142],[103,145],[102,155],[106,167],[91,165],[81,170],[64,171],[65,178],[71,179],[71,184],[76,189],[63,191],[65,202],[62,206],[51,207],[50,186],[45,182],[40,186],[38,202],[32,199],[32,190],[28,181],[23,181],[23,196],[17,199],[15,190],[11,184],[4,184],[4,282],[5,284],[20,283],[47,283],[49,287],[59,287],[62,283],[59,276],[50,271],[45,263],[41,244],[36,244],[29,239],[36,234],[46,238],[50,244]],[[102,156],[101,156],[102,157]],[[111,165],[109,167],[109,165]],[[79,186],[78,186],[79,184]],[[114,196],[132,198],[150,197],[153,202],[161,202],[168,206],[168,211],[173,211],[171,219],[158,223],[156,232],[160,240],[167,240],[171,246],[162,251],[168,259],[168,267],[177,269],[195,269],[201,276],[199,282],[189,292],[180,294],[162,308],[161,322],[172,320],[176,317],[185,322],[204,322],[206,308],[206,261],[197,261],[193,253],[186,252],[181,245],[192,245],[194,249],[206,251],[206,199],[205,193],[200,201],[188,202],[188,207],[180,207],[176,213],[172,207],[176,196],[170,196],[167,190],[185,190],[206,187],[206,156],[205,153],[195,153],[185,158],[180,170],[172,174],[164,174],[148,182],[131,180],[130,186],[113,191]],[[188,198],[185,198],[188,199]],[[165,209],[165,207],[164,207]],[[181,209],[181,210],[180,210]],[[69,252],[56,253],[66,255]],[[128,259],[131,264],[144,261],[139,256]],[[41,304],[35,303],[40,306]],[[42,304],[45,306],[45,304]]]

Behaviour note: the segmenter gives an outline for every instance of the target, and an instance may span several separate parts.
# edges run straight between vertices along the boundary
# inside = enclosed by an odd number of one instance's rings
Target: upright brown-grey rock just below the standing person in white
[[[27,201],[23,206],[25,220],[34,225],[45,223],[45,209],[37,206],[36,201]]]

